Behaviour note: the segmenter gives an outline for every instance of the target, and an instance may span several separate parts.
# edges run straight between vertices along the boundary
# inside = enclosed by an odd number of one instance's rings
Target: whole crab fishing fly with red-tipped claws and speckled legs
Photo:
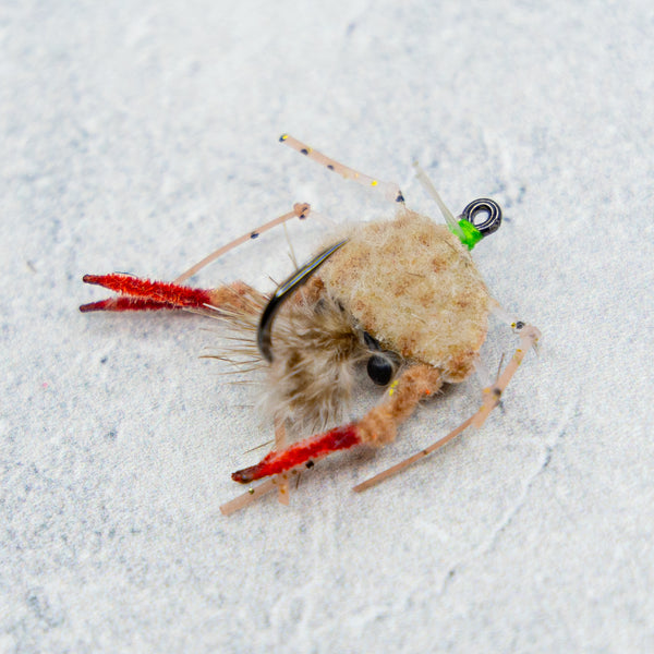
[[[296,204],[289,214],[217,250],[173,282],[125,274],[86,275],[118,295],[84,304],[82,312],[190,310],[218,318],[235,332],[239,355],[265,371],[264,410],[276,426],[276,446],[259,463],[232,474],[251,487],[222,508],[230,513],[278,488],[288,501],[289,474],[324,456],[358,445],[384,446],[419,402],[445,383],[463,382],[479,365],[488,315],[495,314],[519,336],[505,370],[483,391],[480,410],[447,436],[410,459],[360,484],[363,491],[427,456],[468,426],[481,426],[501,395],[538,329],[513,319],[492,299],[470,251],[495,232],[501,210],[492,199],[470,203],[455,218],[417,164],[416,175],[437,203],[446,225],[407,208],[397,184],[380,182],[338,164],[284,134],[280,141],[329,170],[377,187],[397,206],[393,219],[348,229],[336,242],[264,294],[242,281],[216,289],[183,282],[228,250],[311,208]],[[227,353],[220,359],[230,359]],[[337,424],[353,392],[355,368],[365,364],[371,379],[386,388],[384,400],[359,421]],[[315,433],[287,446],[287,432]]]

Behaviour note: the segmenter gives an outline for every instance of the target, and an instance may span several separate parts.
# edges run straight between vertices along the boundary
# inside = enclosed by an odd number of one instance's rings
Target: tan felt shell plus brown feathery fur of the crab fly
[[[234,349],[231,341],[230,360],[239,363],[237,352],[247,370],[253,363],[265,370],[262,408],[291,435],[343,419],[356,366],[374,353],[364,332],[408,364],[426,364],[438,384],[468,377],[486,336],[486,286],[445,226],[403,209],[346,237],[280,308],[269,364],[254,339],[267,299],[239,282],[213,291],[220,317],[242,342]]]

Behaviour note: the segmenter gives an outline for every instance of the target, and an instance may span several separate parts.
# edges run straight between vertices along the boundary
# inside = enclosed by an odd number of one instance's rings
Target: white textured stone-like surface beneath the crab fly
[[[0,652],[654,651],[650,0],[4,0],[0,44]],[[290,509],[226,519],[269,435],[252,395],[196,358],[193,316],[77,313],[104,296],[81,276],[171,279],[295,201],[392,210],[282,131],[423,211],[414,158],[453,210],[498,199],[475,253],[543,350],[403,475],[350,491],[470,413],[474,380]],[[492,365],[511,347],[493,329]]]

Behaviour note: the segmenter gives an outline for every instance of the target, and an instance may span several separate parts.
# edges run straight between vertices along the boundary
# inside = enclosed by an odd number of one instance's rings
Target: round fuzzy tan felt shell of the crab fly
[[[445,382],[468,377],[491,299],[459,239],[408,209],[347,235],[317,272],[327,294],[384,348],[438,368]]]

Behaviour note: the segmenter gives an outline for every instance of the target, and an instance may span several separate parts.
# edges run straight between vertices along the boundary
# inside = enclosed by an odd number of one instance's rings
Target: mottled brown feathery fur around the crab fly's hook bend
[[[267,299],[242,282],[216,289],[221,308],[211,312],[228,326],[229,348],[211,355],[242,371],[265,371],[261,405],[291,434],[338,422],[352,397],[355,366],[370,355],[363,332],[340,303],[313,278],[282,305],[272,327],[272,362],[256,347]]]

